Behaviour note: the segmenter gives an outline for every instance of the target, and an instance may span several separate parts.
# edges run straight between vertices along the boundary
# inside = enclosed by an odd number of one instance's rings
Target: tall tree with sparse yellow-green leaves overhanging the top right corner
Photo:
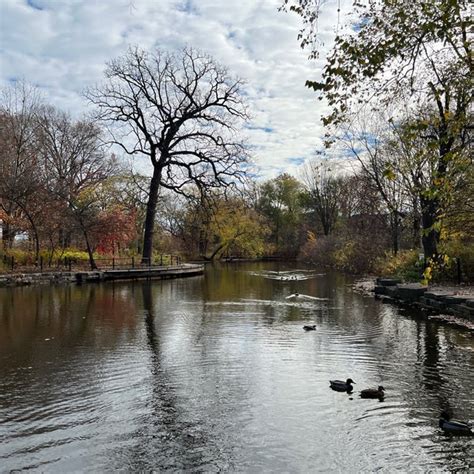
[[[323,2],[285,1],[303,19],[303,47],[314,45]],[[361,104],[374,98],[382,106],[411,96],[414,109],[430,117],[412,122],[425,139],[434,165],[433,186],[421,202],[423,247],[428,258],[438,254],[440,193],[449,179],[450,163],[471,144],[473,59],[468,0],[355,1],[357,20],[336,37],[322,79],[307,85],[331,107],[326,125],[344,123]],[[426,120],[428,119],[428,122]]]

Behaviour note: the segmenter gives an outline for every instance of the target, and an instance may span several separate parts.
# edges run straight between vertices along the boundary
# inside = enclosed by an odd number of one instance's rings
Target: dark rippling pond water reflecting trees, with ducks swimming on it
[[[0,290],[0,471],[474,467],[437,427],[474,419],[472,332],[271,270]],[[329,389],[347,377],[385,401]]]

